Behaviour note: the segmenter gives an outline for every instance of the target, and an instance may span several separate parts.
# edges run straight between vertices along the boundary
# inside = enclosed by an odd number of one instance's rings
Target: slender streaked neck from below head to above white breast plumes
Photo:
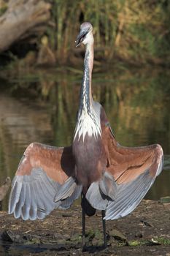
[[[91,94],[91,76],[93,69],[93,42],[86,45],[84,60],[84,75],[82,78],[82,86],[80,91],[80,110],[82,108],[90,110],[93,98]]]

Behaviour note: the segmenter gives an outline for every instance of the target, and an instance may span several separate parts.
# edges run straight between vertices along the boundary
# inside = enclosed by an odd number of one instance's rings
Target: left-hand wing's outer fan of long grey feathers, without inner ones
[[[9,197],[9,214],[15,218],[42,219],[57,208],[54,197],[61,186],[41,168],[33,169],[30,176],[15,176]]]

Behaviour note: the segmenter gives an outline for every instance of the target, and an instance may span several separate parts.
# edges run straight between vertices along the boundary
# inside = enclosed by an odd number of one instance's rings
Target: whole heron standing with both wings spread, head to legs
[[[85,214],[101,210],[104,246],[105,219],[118,219],[136,208],[163,167],[158,144],[136,148],[115,140],[104,108],[93,101],[93,27],[80,26],[76,46],[85,45],[80,106],[72,145],[56,148],[31,143],[20,160],[9,197],[15,218],[42,219],[54,208],[69,208],[82,195],[82,244]]]

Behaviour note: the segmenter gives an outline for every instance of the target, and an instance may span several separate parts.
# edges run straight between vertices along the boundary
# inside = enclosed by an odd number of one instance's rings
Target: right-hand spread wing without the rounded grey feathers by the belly
[[[109,127],[108,127],[109,128]],[[110,129],[110,128],[109,128]],[[108,167],[117,184],[115,200],[109,201],[106,219],[117,219],[136,208],[163,168],[158,144],[128,148],[120,146],[108,131]]]

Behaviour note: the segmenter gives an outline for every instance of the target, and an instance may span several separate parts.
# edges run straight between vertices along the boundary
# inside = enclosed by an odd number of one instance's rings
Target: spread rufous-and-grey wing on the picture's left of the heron
[[[72,146],[31,143],[12,181],[9,214],[33,220],[44,218],[59,206],[68,208],[81,192],[73,176]]]

